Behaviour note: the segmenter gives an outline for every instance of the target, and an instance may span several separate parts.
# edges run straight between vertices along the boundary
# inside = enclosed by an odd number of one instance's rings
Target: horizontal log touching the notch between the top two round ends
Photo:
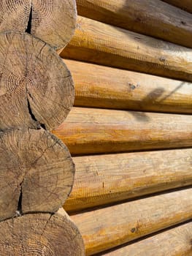
[[[67,59],[192,81],[192,50],[96,20],[79,17]]]

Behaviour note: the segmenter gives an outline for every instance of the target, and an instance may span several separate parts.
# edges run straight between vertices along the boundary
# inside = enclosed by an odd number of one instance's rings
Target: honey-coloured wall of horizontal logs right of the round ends
[[[77,13],[60,52],[75,107],[53,134],[76,166],[64,208],[85,254],[192,255],[192,15],[153,0]]]

